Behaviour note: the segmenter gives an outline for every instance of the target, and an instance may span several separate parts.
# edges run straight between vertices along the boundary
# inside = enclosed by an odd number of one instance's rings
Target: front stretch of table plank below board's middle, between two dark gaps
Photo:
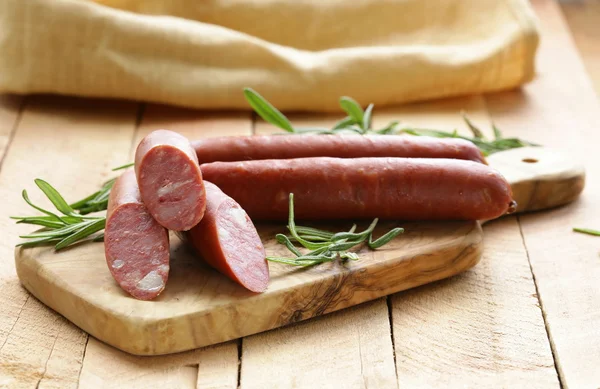
[[[245,338],[240,384],[397,388],[386,299]]]

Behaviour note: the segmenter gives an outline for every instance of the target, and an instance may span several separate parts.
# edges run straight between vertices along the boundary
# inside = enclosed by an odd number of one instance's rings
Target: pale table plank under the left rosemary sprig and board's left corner
[[[109,167],[128,152],[135,114],[131,103],[28,99],[0,172],[0,385],[77,385],[87,335],[20,286],[11,258],[19,233],[31,228],[15,226],[8,217],[31,214],[20,197],[23,188],[32,201],[48,204],[40,201],[43,195],[33,184],[37,177],[70,200],[95,190]]]

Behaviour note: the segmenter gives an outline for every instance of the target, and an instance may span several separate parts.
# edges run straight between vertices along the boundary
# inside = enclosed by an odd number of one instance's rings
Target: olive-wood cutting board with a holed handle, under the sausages
[[[583,167],[545,148],[492,155],[513,187],[518,212],[552,208],[577,198]],[[406,232],[361,259],[295,268],[270,263],[271,283],[253,294],[198,260],[172,234],[171,271],[165,291],[139,301],[112,279],[102,243],[59,253],[17,248],[21,283],[35,297],[96,338],[137,355],[174,353],[285,326],[401,290],[461,273],[481,258],[480,222],[380,223],[376,232],[402,226]],[[287,255],[274,236],[285,223],[257,226],[268,255]],[[347,229],[347,224],[321,224]],[[365,227],[363,225],[359,227]]]

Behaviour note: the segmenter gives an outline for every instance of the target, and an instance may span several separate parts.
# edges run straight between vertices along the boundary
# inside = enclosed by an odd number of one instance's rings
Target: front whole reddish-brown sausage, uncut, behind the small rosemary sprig
[[[488,220],[514,211],[509,183],[487,165],[458,159],[297,158],[214,162],[204,177],[253,220]]]

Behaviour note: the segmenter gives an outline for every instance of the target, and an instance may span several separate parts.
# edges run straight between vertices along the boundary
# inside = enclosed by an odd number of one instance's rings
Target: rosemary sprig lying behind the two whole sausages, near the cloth
[[[473,133],[472,137],[459,135],[456,130],[453,132],[446,132],[424,128],[399,127],[400,122],[398,121],[392,121],[387,126],[376,130],[372,128],[373,104],[369,104],[367,106],[367,109],[363,111],[360,104],[358,104],[351,97],[347,96],[340,98],[340,107],[347,114],[347,116],[335,123],[331,129],[298,128],[294,127],[283,113],[281,113],[277,108],[275,108],[271,103],[269,103],[264,97],[259,95],[253,89],[244,89],[244,95],[246,96],[246,99],[248,100],[250,106],[254,109],[254,111],[256,111],[256,113],[261,118],[292,134],[408,134],[415,136],[432,136],[436,138],[461,138],[474,143],[486,156],[503,150],[510,150],[526,146],[539,146],[538,144],[528,142],[519,138],[504,138],[495,124],[492,124],[492,130],[494,131],[494,139],[488,140],[484,137],[483,132],[477,126],[475,126],[464,113],[462,116],[465,123],[467,124],[467,127]]]

